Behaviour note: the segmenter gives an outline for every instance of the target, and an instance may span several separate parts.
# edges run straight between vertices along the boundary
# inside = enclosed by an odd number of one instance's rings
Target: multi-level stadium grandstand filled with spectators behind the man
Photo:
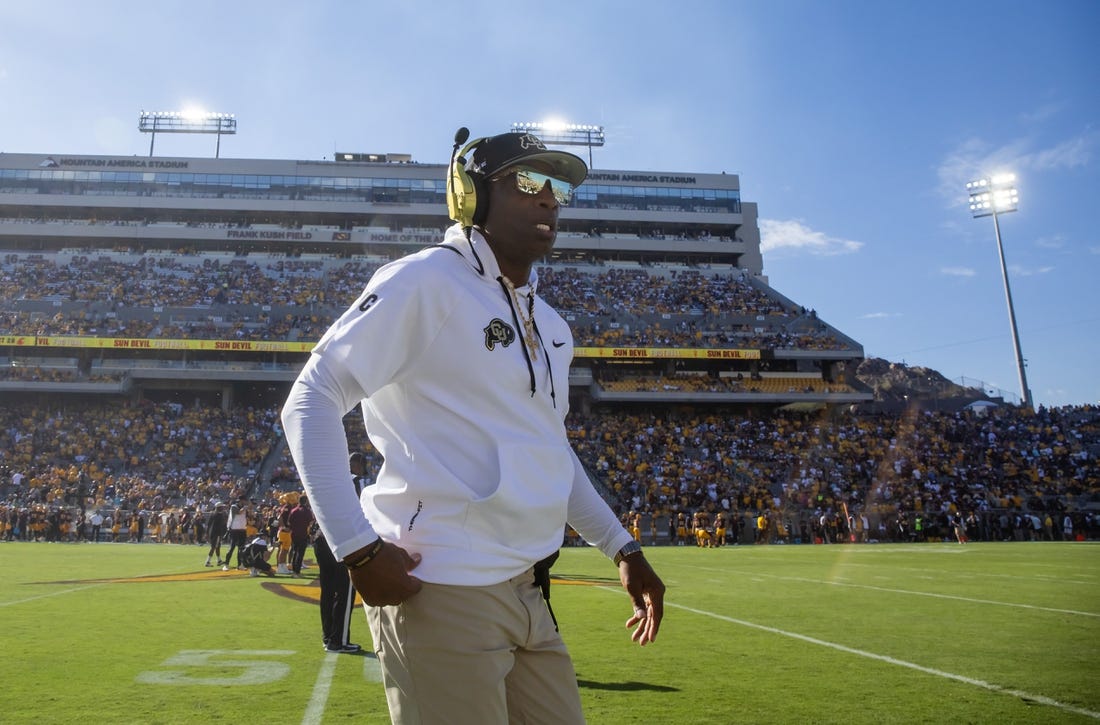
[[[289,384],[376,268],[440,241],[444,172],[0,153],[8,535],[26,536],[16,513],[101,510],[116,536],[186,538],[182,519],[239,493],[262,526],[297,487]],[[988,538],[1094,526],[1096,408],[859,416],[861,345],[769,285],[736,175],[594,168],[538,273],[574,330],[582,460],[661,542],[698,509],[726,512],[735,542],[904,540],[922,516],[921,538],[967,515]]]

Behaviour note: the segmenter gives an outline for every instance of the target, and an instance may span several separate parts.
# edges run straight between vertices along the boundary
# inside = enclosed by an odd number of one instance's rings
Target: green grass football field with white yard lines
[[[1100,547],[648,548],[657,642],[597,551],[552,602],[590,723],[1100,719]],[[376,660],[321,649],[307,576],[176,545],[0,543],[0,722],[388,722]],[[307,570],[307,574],[316,569]],[[358,614],[352,638],[370,646]]]

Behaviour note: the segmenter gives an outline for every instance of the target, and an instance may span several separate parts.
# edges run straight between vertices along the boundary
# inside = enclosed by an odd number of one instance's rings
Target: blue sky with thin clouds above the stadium
[[[765,273],[859,340],[1019,395],[1001,217],[1036,404],[1100,402],[1100,2],[13,0],[0,151],[148,153],[138,113],[235,113],[222,155],[410,153],[454,129],[600,123],[604,168],[727,172]],[[212,155],[158,135],[163,155]]]

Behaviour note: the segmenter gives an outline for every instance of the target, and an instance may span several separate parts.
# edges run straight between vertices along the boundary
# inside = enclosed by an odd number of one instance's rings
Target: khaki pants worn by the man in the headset
[[[394,723],[584,722],[531,570],[492,586],[426,583],[404,604],[366,609]]]

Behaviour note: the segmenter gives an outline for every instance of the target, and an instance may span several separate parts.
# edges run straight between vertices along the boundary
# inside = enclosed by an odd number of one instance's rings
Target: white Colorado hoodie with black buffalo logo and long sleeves
[[[558,549],[566,519],[612,557],[630,535],[565,433],[569,326],[536,296],[528,365],[521,316],[537,275],[514,312],[492,251],[472,235],[473,249],[454,226],[449,249],[378,270],[295,382],[283,425],[321,530],[338,558],[376,536],[419,552],[413,573],[439,584],[519,574]],[[341,422],[361,400],[385,458],[362,510]]]

